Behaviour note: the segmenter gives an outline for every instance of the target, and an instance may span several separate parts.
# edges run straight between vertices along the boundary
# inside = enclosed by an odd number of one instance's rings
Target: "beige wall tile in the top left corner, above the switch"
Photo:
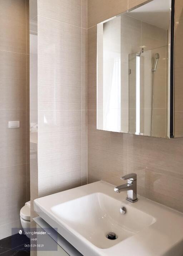
[[[0,50],[26,53],[25,0],[1,0]]]

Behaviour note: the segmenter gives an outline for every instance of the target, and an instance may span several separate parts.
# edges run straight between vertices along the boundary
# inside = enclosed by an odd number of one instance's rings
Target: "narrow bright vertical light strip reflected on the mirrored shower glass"
[[[140,55],[136,55],[136,132],[140,134]]]

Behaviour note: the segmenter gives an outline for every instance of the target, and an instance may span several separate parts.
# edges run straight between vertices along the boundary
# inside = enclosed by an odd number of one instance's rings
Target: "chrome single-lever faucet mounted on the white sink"
[[[135,203],[138,201],[137,198],[137,174],[130,173],[121,178],[122,180],[127,180],[127,183],[114,188],[114,191],[120,193],[122,191],[127,191],[126,200]]]

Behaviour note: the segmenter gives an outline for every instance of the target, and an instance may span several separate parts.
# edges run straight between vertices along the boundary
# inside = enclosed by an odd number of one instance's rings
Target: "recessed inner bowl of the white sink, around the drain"
[[[94,193],[58,204],[51,211],[95,246],[109,248],[155,222],[152,216],[126,204],[127,213],[120,214],[122,205],[108,195]],[[108,240],[109,232],[114,232],[118,239]]]

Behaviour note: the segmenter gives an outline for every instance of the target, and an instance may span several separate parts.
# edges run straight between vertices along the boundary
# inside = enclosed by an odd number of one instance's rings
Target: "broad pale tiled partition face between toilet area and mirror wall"
[[[31,0],[32,17],[37,4],[38,166],[31,169],[32,202],[87,182],[86,0]]]

